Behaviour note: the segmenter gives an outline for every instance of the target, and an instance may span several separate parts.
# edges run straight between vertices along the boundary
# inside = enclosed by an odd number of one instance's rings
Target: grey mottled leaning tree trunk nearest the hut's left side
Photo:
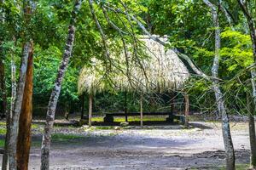
[[[74,4],[72,18],[70,20],[70,26],[68,28],[67,42],[65,51],[62,57],[61,65],[55,80],[55,86],[49,98],[49,105],[47,110],[46,122],[44,126],[44,135],[42,139],[42,149],[41,149],[41,169],[49,169],[49,144],[50,144],[50,134],[54,125],[55,120],[55,110],[56,105],[61,93],[61,82],[63,80],[64,74],[67,71],[68,61],[71,57],[73,42],[75,36],[75,22],[76,16],[79,13],[79,8],[81,6],[82,0],[78,0]]]

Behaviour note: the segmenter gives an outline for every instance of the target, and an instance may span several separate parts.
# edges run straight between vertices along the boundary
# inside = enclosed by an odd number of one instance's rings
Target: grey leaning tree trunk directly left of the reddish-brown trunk
[[[17,87],[17,94],[15,98],[14,110],[12,111],[12,120],[10,122],[10,132],[9,132],[9,168],[16,169],[16,142],[18,136],[18,125],[20,118],[20,110],[22,105],[22,98],[24,94],[25,82],[26,82],[26,66],[28,54],[31,48],[30,42],[26,42],[23,48],[23,55],[21,58],[20,65],[20,77]]]

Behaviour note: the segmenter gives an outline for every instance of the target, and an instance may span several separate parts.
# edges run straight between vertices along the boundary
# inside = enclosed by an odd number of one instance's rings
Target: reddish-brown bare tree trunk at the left
[[[17,169],[27,170],[31,146],[33,46],[29,52],[17,139]]]

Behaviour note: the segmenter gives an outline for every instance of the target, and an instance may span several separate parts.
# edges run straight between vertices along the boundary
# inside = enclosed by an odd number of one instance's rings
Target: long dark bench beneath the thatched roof
[[[106,113],[104,122],[113,122],[113,116],[140,116],[140,112],[117,112],[117,113]],[[185,117],[181,115],[174,115],[172,112],[143,112],[143,116],[168,116],[166,122],[173,122],[177,119],[179,122],[184,123]]]

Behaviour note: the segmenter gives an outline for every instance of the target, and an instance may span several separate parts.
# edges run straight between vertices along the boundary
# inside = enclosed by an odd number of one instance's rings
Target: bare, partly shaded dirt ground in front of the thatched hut
[[[0,124],[0,127],[2,125]],[[1,133],[0,128],[0,133]],[[30,169],[39,169],[43,124],[32,126]],[[246,122],[231,122],[236,163],[249,163]],[[3,140],[3,135],[2,135]],[[2,144],[0,142],[0,144]],[[2,158],[2,156],[0,157]],[[50,151],[51,169],[223,169],[221,123],[130,127],[55,126]]]

